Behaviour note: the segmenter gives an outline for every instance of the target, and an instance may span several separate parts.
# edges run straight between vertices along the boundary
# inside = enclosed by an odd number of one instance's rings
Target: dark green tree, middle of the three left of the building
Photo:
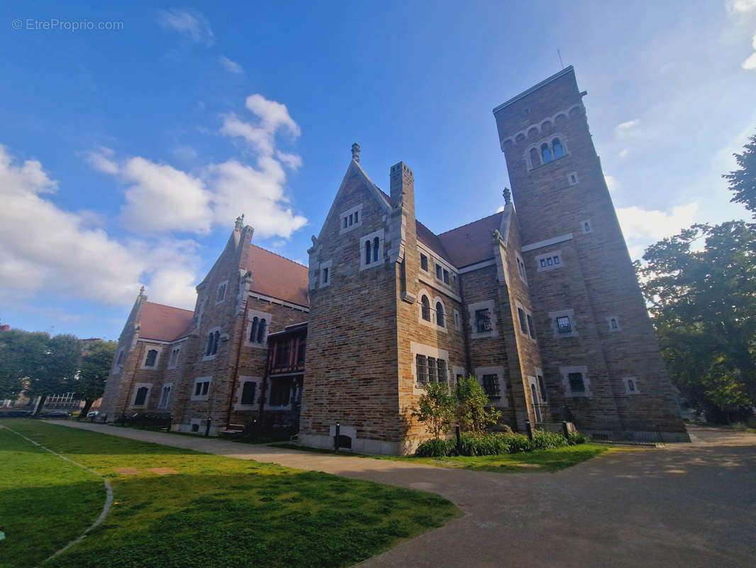
[[[48,395],[56,392],[70,392],[73,380],[82,356],[82,342],[74,335],[60,334],[50,337],[44,336],[44,352],[35,353],[33,364],[26,369],[26,395],[41,397],[37,404],[36,414],[45,406]]]

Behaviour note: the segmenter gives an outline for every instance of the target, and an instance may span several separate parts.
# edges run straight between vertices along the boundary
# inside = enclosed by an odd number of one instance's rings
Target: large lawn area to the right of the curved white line
[[[104,474],[113,485],[115,500],[104,523],[56,557],[50,563],[56,568],[349,566],[460,514],[451,502],[426,492],[31,420],[0,423]],[[160,467],[178,473],[160,476],[148,471]],[[116,473],[119,468],[139,473]],[[60,486],[72,485],[64,482],[73,479],[69,474],[60,473]],[[30,470],[27,475],[34,479],[39,472]],[[79,529],[97,517],[104,501],[101,487],[97,479],[88,491],[97,495],[98,511],[79,523]],[[82,493],[79,488],[45,497],[66,507],[81,500]],[[30,493],[32,500],[33,495],[36,491]],[[36,523],[49,523],[44,510]],[[76,530],[71,533],[76,536]],[[0,541],[2,558],[7,558],[7,543],[8,539]],[[39,542],[32,544],[42,548]],[[47,553],[55,548],[48,547]]]

